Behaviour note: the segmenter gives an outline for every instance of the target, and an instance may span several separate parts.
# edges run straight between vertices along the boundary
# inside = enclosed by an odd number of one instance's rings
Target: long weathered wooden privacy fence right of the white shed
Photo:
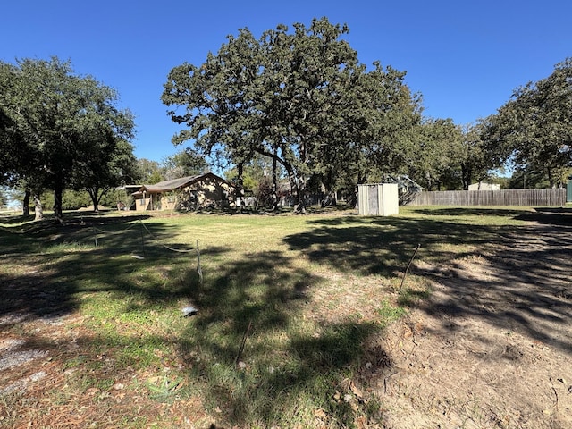
[[[564,206],[566,189],[433,190],[409,206]]]

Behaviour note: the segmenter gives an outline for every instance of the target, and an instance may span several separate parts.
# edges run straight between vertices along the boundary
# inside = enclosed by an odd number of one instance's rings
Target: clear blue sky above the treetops
[[[0,60],[55,55],[117,89],[136,115],[135,155],[161,161],[181,149],[160,100],[172,67],[203,63],[241,28],[259,37],[324,16],[348,24],[361,63],[407,71],[426,116],[458,124],[494,114],[572,56],[569,0],[21,0],[2,5]]]

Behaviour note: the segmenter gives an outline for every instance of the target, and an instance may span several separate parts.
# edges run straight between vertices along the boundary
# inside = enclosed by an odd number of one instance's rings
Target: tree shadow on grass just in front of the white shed
[[[451,246],[481,246],[498,240],[502,231],[423,218],[340,216],[309,223],[315,228],[285,237],[290,248],[316,263],[382,276],[402,273],[417,245],[419,258],[447,261],[459,257]]]

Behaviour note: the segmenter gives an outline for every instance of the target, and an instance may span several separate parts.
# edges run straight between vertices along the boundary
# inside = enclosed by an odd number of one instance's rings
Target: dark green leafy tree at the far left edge
[[[65,187],[88,189],[97,208],[132,157],[133,117],[116,107],[116,91],[56,57],[0,63],[0,84],[4,181],[36,196],[52,189],[58,222]]]

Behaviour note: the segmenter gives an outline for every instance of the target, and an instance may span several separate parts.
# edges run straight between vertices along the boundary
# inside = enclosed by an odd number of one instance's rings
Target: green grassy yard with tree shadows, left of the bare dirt
[[[357,374],[430,293],[415,270],[401,287],[417,245],[432,265],[475,255],[530,210],[66,215],[0,218],[0,340],[46,350],[22,378],[49,374],[2,390],[0,371],[2,427],[381,422]]]

